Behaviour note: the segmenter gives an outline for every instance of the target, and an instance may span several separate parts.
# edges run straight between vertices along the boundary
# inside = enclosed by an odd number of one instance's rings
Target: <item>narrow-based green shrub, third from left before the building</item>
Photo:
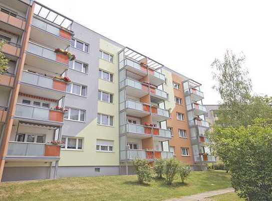
[[[164,174],[166,183],[171,185],[179,170],[180,162],[174,158],[165,160]]]

